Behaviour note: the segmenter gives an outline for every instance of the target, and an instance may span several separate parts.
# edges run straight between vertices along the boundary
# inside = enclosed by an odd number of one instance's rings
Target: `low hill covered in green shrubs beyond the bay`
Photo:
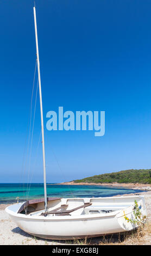
[[[121,170],[116,173],[106,173],[87,177],[81,180],[73,180],[75,183],[88,182],[88,183],[142,183],[151,184],[151,169],[140,170]]]

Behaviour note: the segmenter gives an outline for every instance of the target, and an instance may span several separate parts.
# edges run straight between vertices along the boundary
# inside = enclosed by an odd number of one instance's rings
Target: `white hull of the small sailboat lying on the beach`
[[[134,200],[141,205],[141,212],[146,215],[146,207],[143,196],[135,197],[109,197],[109,198],[73,198],[64,199],[68,204],[71,202],[80,203],[89,200],[92,206],[85,208],[85,213],[81,210],[74,212],[71,216],[40,216],[36,212],[32,215],[18,214],[18,208],[22,204],[9,206],[6,211],[18,227],[27,233],[41,237],[43,239],[65,240],[83,237],[95,237],[104,234],[119,233],[137,228],[136,225],[128,223],[125,216],[134,218]],[[120,209],[125,204],[125,208]],[[115,207],[114,211],[109,213],[87,214],[88,210],[105,208],[108,205]],[[129,206],[128,206],[129,205]],[[116,208],[119,210],[116,210]],[[53,205],[54,208],[54,205]],[[88,209],[89,208],[89,209]],[[111,206],[110,206],[111,208]],[[83,211],[83,209],[82,209]]]

